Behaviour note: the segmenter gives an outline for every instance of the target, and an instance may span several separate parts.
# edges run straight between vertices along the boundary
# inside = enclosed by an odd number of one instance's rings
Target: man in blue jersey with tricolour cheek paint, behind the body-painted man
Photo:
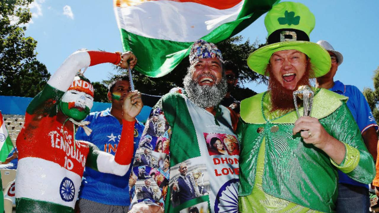
[[[113,81],[108,89],[108,99],[112,102],[112,107],[90,113],[85,121],[91,122],[88,127],[91,128],[92,133],[87,136],[84,129],[80,127],[75,137],[77,140],[89,141],[100,150],[114,155],[121,138],[122,103],[131,89],[127,77]],[[143,127],[141,122],[135,123],[133,157],[138,149]],[[120,177],[86,167],[77,202],[80,212],[127,212],[130,205],[129,177],[131,171],[132,167],[124,176]]]

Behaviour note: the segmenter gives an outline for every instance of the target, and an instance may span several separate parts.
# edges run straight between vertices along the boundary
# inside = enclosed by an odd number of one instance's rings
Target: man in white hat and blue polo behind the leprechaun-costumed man
[[[335,51],[329,42],[321,40],[317,44],[324,47],[330,55],[332,65],[326,75],[316,78],[316,87],[329,89],[330,91],[349,97],[346,102],[352,116],[358,124],[362,134],[363,141],[366,144],[368,151],[377,157],[377,134],[378,125],[374,120],[371,109],[363,96],[362,92],[356,86],[344,85],[341,81],[334,81],[334,75],[337,72],[338,66],[343,61],[343,56],[340,52]],[[368,185],[352,180],[345,173],[338,171],[338,212],[367,212],[370,208],[370,197],[368,194]],[[378,184],[379,186],[379,184]],[[351,205],[351,204],[354,205]]]

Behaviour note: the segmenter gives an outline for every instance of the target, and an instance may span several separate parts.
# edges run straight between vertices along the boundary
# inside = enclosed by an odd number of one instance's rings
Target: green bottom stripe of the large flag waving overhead
[[[228,39],[249,26],[279,1],[247,0],[236,20],[220,25],[201,39],[213,43]],[[135,69],[150,77],[161,77],[171,72],[189,54],[189,48],[194,42],[146,38],[124,29],[120,29],[120,32],[124,51],[132,50],[138,58]]]

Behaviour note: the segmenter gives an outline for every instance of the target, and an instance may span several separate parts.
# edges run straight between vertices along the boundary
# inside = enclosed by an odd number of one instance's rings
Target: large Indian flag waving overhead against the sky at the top
[[[279,0],[114,0],[124,51],[150,77],[171,72],[198,39],[217,43],[239,33]]]

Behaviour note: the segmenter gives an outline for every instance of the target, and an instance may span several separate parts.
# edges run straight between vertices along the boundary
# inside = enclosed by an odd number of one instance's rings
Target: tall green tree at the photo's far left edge
[[[37,41],[25,37],[31,2],[0,1],[0,95],[33,97],[50,78],[46,66],[36,59]]]

